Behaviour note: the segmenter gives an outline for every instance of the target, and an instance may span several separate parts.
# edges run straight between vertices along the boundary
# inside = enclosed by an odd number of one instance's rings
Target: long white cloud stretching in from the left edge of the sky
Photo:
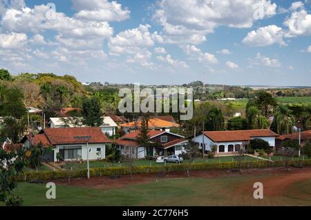
[[[12,32],[44,32],[55,30],[61,34],[76,38],[110,37],[113,28],[107,22],[80,21],[67,17],[62,12],[51,10],[48,6],[34,8],[9,8],[3,14],[1,26],[3,30]]]

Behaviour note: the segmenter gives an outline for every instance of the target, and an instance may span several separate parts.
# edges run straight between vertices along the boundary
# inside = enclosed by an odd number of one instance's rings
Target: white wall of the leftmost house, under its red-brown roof
[[[86,149],[86,143],[83,144],[72,144],[72,145],[57,145],[55,146],[54,150],[54,161],[57,161],[56,154],[59,152],[59,149],[70,149],[70,148],[77,148],[82,147],[82,160],[87,159],[87,149]],[[96,160],[96,159],[104,159],[106,155],[106,145],[104,143],[88,143],[88,148],[92,148],[92,151],[90,154],[88,154],[89,160]],[[97,148],[101,148],[101,154],[97,155]]]

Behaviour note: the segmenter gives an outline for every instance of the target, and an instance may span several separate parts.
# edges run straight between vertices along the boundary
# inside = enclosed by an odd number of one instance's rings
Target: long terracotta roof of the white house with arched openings
[[[270,129],[258,130],[225,130],[204,132],[205,136],[215,142],[249,141],[252,137],[277,137]]]

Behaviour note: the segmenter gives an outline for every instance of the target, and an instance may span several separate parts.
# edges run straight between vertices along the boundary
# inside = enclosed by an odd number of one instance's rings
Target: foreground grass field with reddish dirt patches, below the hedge
[[[57,186],[56,199],[46,199],[45,184],[18,183],[15,194],[22,197],[23,206],[310,206],[310,179],[279,197],[254,199],[253,183],[266,177],[270,176],[155,179],[106,189]],[[241,191],[241,186],[247,190]]]

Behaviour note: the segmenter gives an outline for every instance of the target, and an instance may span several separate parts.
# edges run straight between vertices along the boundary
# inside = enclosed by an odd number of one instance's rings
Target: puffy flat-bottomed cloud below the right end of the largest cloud
[[[249,32],[242,42],[246,46],[269,46],[274,43],[286,46],[283,35],[282,28],[275,25],[265,26]]]

